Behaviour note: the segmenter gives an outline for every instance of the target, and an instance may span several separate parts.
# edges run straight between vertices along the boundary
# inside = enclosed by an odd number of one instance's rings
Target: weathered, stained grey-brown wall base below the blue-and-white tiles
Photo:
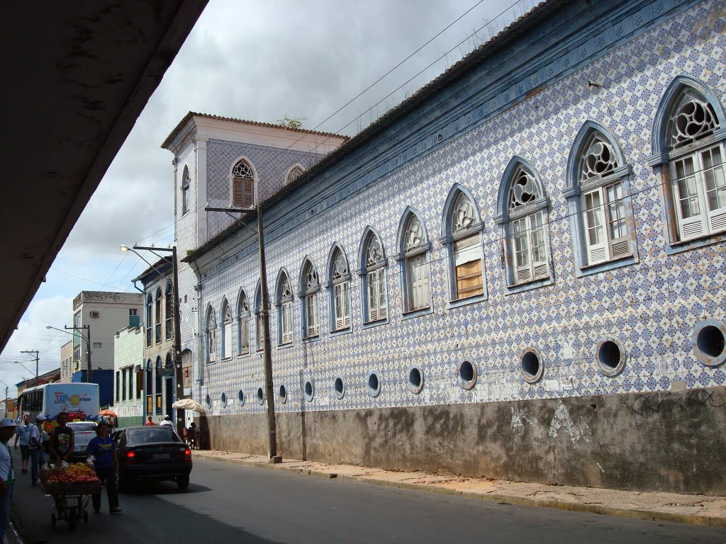
[[[277,415],[279,453],[329,463],[726,493],[724,388]],[[213,416],[211,448],[264,454],[264,414]]]

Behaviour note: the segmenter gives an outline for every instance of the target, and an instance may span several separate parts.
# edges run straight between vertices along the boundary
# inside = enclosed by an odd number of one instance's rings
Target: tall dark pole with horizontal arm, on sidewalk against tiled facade
[[[205,212],[224,212],[232,217],[241,227],[248,227],[242,223],[241,218],[234,217],[232,213],[257,213],[257,243],[260,252],[260,314],[264,328],[263,358],[265,372],[265,397],[267,400],[267,433],[270,463],[282,463],[282,457],[277,455],[277,423],[274,415],[274,384],[272,382],[272,347],[270,345],[270,314],[269,292],[267,290],[267,263],[265,260],[265,236],[262,221],[262,206],[253,208],[234,207],[204,207]],[[250,229],[251,230],[251,229]]]

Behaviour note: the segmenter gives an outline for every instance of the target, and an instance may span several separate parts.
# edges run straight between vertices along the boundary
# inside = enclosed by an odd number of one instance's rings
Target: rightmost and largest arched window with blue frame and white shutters
[[[687,93],[706,104],[709,111],[704,118],[710,118],[713,127],[710,131],[701,131],[703,136],[697,139],[674,142],[674,133],[682,134],[682,125],[677,120],[688,120],[688,127],[698,128],[699,123],[691,123],[693,118],[688,118],[689,112],[681,110],[685,105],[683,100],[688,100]],[[680,111],[676,111],[677,107]],[[724,239],[726,189],[708,191],[706,176],[713,179],[714,170],[723,176],[725,143],[726,113],[717,94],[696,78],[686,75],[674,78],[658,104],[651,133],[653,154],[647,160],[648,165],[656,170],[660,182],[658,185],[664,202],[662,219],[667,237],[664,249],[667,254]],[[721,160],[716,167],[708,164],[714,160],[715,154],[720,154]],[[690,172],[691,168],[693,172]],[[711,209],[711,202],[717,202],[718,206]]]

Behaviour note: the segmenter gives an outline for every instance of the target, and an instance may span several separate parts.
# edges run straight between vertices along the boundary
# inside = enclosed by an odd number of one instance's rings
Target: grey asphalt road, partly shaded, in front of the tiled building
[[[18,460],[16,466],[20,466]],[[192,483],[121,495],[123,514],[69,531],[52,499],[20,475],[14,497],[25,543],[726,543],[726,529],[645,522],[455,498],[196,460]]]

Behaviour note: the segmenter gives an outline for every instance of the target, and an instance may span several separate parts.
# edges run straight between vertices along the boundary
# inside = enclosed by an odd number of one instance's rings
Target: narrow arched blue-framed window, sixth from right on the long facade
[[[358,248],[358,276],[361,285],[363,326],[388,322],[388,287],[386,283],[386,247],[378,232],[368,225]]]

